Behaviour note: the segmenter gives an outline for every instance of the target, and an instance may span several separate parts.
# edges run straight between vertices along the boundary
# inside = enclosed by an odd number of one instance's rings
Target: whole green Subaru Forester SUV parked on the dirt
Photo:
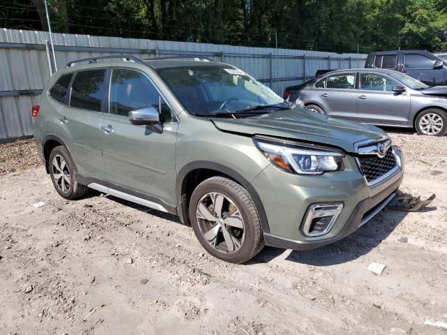
[[[32,116],[62,197],[94,188],[178,215],[228,262],[342,239],[393,199],[404,171],[381,129],[310,112],[207,59],[72,61]]]

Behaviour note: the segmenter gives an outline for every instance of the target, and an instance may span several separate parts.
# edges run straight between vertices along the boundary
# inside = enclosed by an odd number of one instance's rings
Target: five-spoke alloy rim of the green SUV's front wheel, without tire
[[[203,195],[197,204],[196,218],[200,233],[216,251],[234,253],[244,243],[242,213],[226,195]]]

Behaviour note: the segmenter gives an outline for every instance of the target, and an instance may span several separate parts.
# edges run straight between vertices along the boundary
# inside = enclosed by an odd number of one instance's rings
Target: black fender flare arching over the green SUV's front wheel
[[[237,183],[241,184],[245,189],[247,189],[247,191],[251,195],[251,198],[256,204],[256,209],[258,209],[258,214],[259,218],[261,219],[261,226],[263,228],[263,232],[270,232],[270,226],[268,224],[268,218],[267,215],[265,214],[263,203],[256,189],[250,184],[250,181],[245,179],[245,177],[243,177],[242,174],[240,174],[239,172],[236,172],[235,170],[228,168],[225,165],[210,161],[193,161],[191,163],[187,163],[186,165],[184,165],[182,169],[179,170],[177,174],[177,181],[176,181],[177,213],[182,222],[184,222],[185,218],[188,215],[187,214],[188,209],[186,208],[186,204],[184,204],[184,194],[183,194],[184,179],[186,175],[189,174],[189,172],[197,169],[214,170],[222,174],[226,174],[228,177],[235,180]]]

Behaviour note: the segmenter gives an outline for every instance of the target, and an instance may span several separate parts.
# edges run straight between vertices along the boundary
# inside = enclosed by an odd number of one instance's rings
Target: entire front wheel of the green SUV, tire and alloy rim
[[[233,180],[212,177],[200,183],[191,195],[189,217],[203,248],[226,262],[247,262],[264,246],[256,204]]]

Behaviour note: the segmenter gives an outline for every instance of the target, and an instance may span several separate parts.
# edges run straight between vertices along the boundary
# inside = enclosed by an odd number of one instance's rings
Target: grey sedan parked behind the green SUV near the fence
[[[394,70],[335,70],[287,87],[314,112],[376,126],[416,128],[423,135],[447,133],[447,87],[429,87]]]

